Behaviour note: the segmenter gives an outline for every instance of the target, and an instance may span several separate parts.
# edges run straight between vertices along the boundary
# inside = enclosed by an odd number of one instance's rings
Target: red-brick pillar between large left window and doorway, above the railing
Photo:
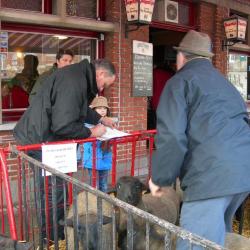
[[[120,6],[121,3],[121,6]],[[113,87],[105,95],[111,103],[111,114],[119,117],[120,128],[124,131],[147,128],[147,98],[132,97],[132,41],[148,42],[148,26],[128,33],[125,38],[126,12],[124,1],[106,2],[106,20],[117,24],[116,32],[105,36],[106,58],[110,59],[120,72]],[[122,17],[120,18],[120,12]],[[130,27],[131,28],[131,27]],[[120,33],[121,30],[121,33]]]

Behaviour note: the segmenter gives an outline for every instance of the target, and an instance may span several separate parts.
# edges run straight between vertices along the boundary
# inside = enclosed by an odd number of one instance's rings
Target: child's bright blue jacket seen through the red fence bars
[[[112,167],[112,152],[103,151],[101,148],[101,141],[96,143],[96,169],[97,170],[110,170]],[[84,168],[92,168],[93,166],[93,143],[86,142],[83,144],[83,152],[81,155],[80,147],[78,147],[78,159],[82,159]]]

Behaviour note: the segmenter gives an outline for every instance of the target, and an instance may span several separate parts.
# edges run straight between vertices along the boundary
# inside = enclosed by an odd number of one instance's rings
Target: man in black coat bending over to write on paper
[[[84,139],[102,136],[106,132],[105,126],[113,127],[111,118],[101,117],[89,108],[92,99],[109,88],[115,81],[115,68],[106,59],[99,59],[93,63],[83,60],[56,70],[43,84],[31,105],[23,114],[14,128],[14,137],[18,144],[37,144],[68,139]],[[84,123],[91,123],[93,128],[84,127]],[[105,125],[105,126],[104,126]],[[41,161],[41,150],[28,152],[29,155]],[[44,213],[44,178],[41,171],[35,173],[35,181],[40,182],[40,193],[36,193],[41,201],[41,237],[45,238]],[[57,182],[57,220],[64,218],[63,182]],[[51,204],[51,179],[49,179],[49,203]],[[38,204],[39,207],[39,204]],[[52,224],[52,212],[50,213]],[[51,228],[53,232],[53,228]],[[63,226],[59,226],[58,237],[63,239]],[[54,239],[53,233],[50,239]]]

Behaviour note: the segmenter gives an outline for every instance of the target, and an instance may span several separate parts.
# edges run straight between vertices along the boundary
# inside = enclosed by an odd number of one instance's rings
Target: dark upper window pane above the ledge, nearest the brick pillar
[[[67,0],[66,12],[69,16],[96,18],[97,1],[94,0]]]

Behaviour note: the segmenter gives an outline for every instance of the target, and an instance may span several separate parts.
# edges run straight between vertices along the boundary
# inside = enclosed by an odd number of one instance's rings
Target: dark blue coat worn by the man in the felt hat
[[[250,191],[250,129],[244,100],[207,59],[172,77],[157,109],[152,180],[181,179],[184,200]]]

